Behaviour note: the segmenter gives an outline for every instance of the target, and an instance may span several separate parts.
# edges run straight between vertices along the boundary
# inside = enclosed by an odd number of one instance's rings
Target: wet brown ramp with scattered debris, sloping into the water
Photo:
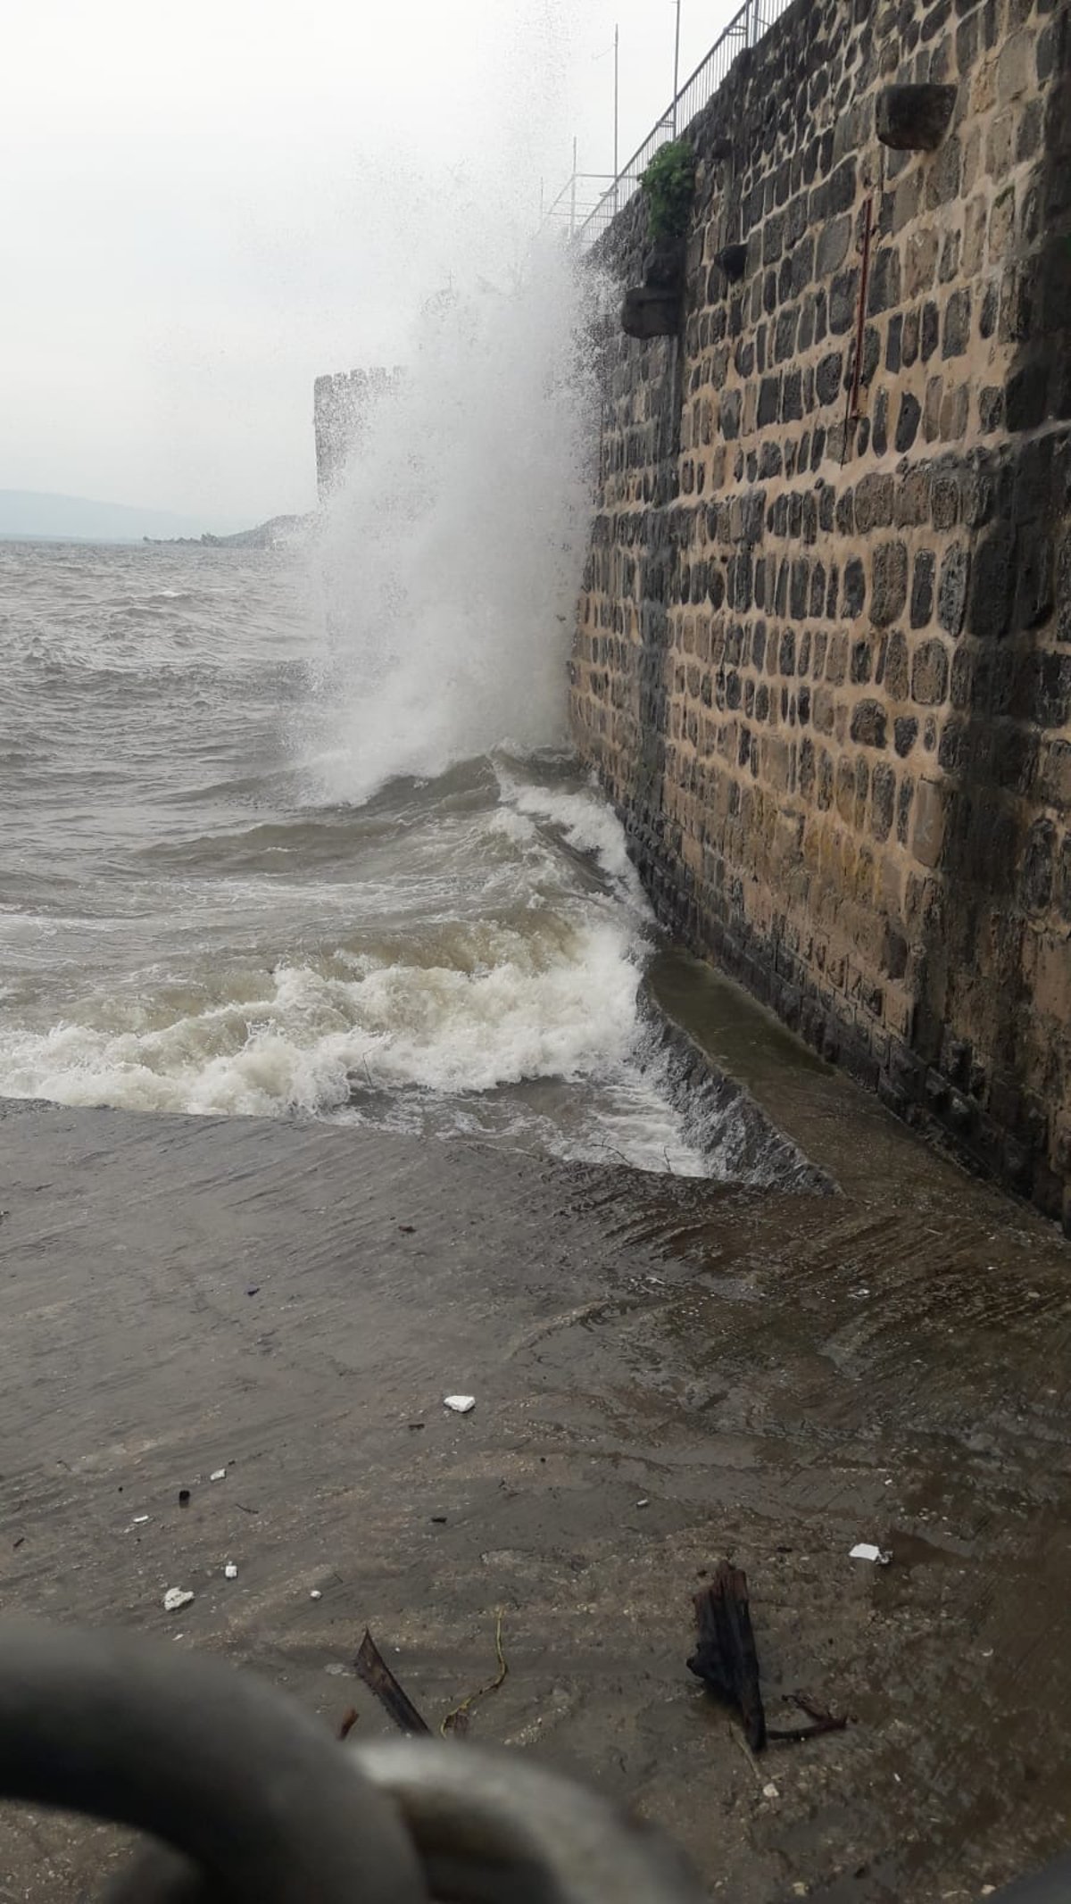
[[[183,1634],[365,1735],[365,1622],[434,1723],[502,1609],[472,1738],[635,1801],[715,1896],[972,1898],[1071,1839],[1071,1249],[708,1003],[839,1198],[10,1108],[0,1605]],[[847,1733],[755,1765],[691,1679],[723,1556],[770,1723],[805,1687]],[[110,1856],[0,1811],[0,1898]]]

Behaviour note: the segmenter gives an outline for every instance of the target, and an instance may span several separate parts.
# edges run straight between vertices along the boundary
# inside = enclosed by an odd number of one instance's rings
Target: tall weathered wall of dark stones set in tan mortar
[[[740,55],[681,337],[605,343],[573,722],[662,920],[1071,1230],[1069,42],[799,0]],[[896,80],[955,86],[934,152]]]

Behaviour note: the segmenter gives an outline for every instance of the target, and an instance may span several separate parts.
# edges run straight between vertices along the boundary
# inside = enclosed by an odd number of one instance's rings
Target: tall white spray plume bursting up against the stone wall
[[[318,539],[325,651],[304,754],[360,802],[506,743],[565,741],[590,514],[599,295],[557,242],[432,299]]]

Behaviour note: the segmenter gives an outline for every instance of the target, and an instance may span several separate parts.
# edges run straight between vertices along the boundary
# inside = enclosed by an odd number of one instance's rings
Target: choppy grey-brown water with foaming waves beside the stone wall
[[[301,552],[0,545],[0,1095],[706,1169],[613,813],[508,744],[325,800],[316,613]]]

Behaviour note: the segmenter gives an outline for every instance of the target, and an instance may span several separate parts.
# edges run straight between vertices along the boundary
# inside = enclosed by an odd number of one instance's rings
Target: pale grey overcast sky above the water
[[[578,139],[670,101],[673,0],[11,0],[0,489],[205,527],[314,501],[312,379],[405,360],[502,270]],[[681,76],[734,11],[681,0]]]

